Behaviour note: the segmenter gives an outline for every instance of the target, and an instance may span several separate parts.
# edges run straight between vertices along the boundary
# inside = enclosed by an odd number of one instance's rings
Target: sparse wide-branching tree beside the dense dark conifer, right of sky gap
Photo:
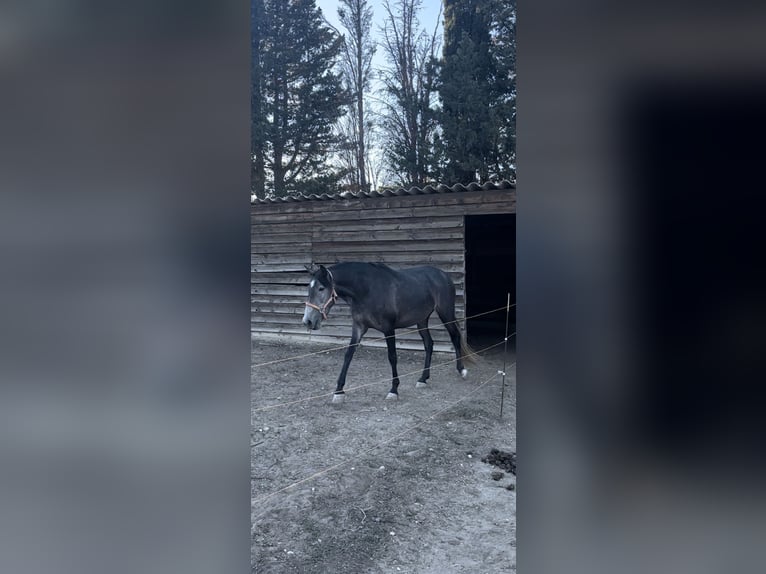
[[[420,0],[384,0],[383,122],[385,157],[402,185],[420,185],[434,174],[436,30],[419,27]]]

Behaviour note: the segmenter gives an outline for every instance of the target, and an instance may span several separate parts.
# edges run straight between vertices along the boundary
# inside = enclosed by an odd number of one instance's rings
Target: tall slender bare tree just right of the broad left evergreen
[[[370,31],[372,28],[372,8],[367,0],[340,0],[338,17],[346,30],[341,72],[352,102],[349,113],[341,127],[349,140],[347,165],[353,170],[354,187],[368,191],[367,177],[368,124],[365,109],[365,93],[370,88],[372,78],[372,58],[375,55],[375,42]],[[345,129],[344,129],[345,128]]]

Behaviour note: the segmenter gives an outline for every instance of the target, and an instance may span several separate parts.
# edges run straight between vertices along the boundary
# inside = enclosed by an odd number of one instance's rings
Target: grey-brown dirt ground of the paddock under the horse
[[[253,343],[253,572],[515,572],[516,477],[482,462],[516,452],[514,354],[502,418],[502,346],[466,379],[454,361],[432,368],[424,389],[423,352],[399,351],[398,401],[385,400],[385,349],[357,351],[341,405],[343,351],[258,366],[322,348]],[[434,353],[433,366],[453,359]]]

